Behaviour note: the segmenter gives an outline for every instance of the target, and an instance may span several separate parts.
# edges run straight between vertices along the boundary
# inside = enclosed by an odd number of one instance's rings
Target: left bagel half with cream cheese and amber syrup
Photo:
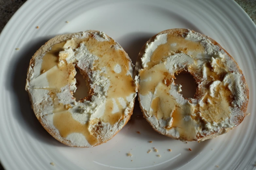
[[[26,91],[46,131],[72,147],[110,140],[130,119],[137,92],[128,54],[103,32],[58,35],[32,57]],[[76,99],[76,68],[88,95]]]

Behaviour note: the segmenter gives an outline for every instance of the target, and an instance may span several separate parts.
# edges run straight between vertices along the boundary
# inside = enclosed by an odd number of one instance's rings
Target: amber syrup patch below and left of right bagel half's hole
[[[172,122],[167,125],[166,129],[176,128],[179,136],[187,140],[195,140],[196,129],[194,120],[187,121],[185,116],[190,117],[190,113],[194,112],[193,106],[187,102],[179,105],[175,99],[169,94],[170,86],[166,87],[160,82],[154,95],[156,96],[151,103],[152,111],[150,115],[155,115],[158,120],[172,117]],[[177,106],[179,105],[179,106]]]

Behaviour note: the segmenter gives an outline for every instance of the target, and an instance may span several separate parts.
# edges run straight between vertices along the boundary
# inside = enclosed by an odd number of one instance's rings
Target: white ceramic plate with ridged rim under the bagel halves
[[[67,147],[43,129],[24,88],[29,60],[44,42],[58,34],[100,30],[119,42],[135,64],[143,44],[170,28],[208,35],[237,61],[250,89],[251,114],[241,125],[215,139],[186,144],[136,119],[142,114],[137,105],[121,132],[94,148]],[[255,169],[255,32],[254,23],[234,1],[28,0],[0,36],[1,163],[6,170]],[[158,153],[147,153],[153,147]],[[127,157],[128,152],[133,156]]]

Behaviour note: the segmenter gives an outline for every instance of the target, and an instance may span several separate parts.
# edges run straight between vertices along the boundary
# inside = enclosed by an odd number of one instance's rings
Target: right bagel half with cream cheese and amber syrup
[[[179,73],[194,77],[194,98],[180,94]],[[204,141],[246,115],[249,90],[241,69],[216,41],[195,31],[169,29],[151,37],[139,52],[135,75],[144,117],[162,135]]]

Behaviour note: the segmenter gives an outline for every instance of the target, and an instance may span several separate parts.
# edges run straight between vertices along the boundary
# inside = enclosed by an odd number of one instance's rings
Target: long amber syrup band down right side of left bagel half
[[[113,125],[124,118],[124,108],[120,105],[118,98],[124,98],[127,105],[126,97],[135,93],[134,81],[130,75],[126,75],[129,68],[129,60],[127,59],[124,51],[115,50],[114,45],[116,45],[116,43],[112,39],[110,41],[97,41],[93,38],[89,38],[83,43],[86,45],[86,48],[90,53],[100,58],[94,63],[95,69],[105,67],[107,70],[105,76],[109,77],[110,86],[107,92],[108,100],[106,102],[102,120]],[[114,72],[114,67],[117,64],[121,67],[120,73]],[[119,108],[117,113],[112,113],[112,99],[116,101]]]

